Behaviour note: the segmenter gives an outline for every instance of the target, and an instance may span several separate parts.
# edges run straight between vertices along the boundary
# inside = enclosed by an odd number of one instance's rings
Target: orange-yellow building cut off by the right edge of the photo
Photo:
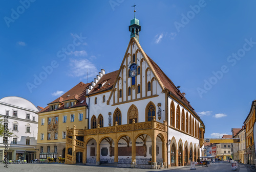
[[[247,115],[244,125],[246,128],[246,158],[245,162],[255,164],[255,147],[253,139],[253,125],[255,122],[256,100],[252,101],[249,114]]]

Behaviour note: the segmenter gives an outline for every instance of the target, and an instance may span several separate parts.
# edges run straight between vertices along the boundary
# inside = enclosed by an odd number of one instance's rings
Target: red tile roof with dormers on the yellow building
[[[61,110],[61,109],[64,109],[64,103],[63,102],[68,101],[68,100],[76,99],[78,101],[76,103],[76,105],[73,106],[73,107],[68,107],[68,108],[75,108],[75,107],[80,107],[80,106],[88,106],[87,103],[86,103],[85,95],[87,95],[86,94],[86,89],[89,88],[90,85],[91,85],[91,83],[84,84],[84,83],[80,82],[76,86],[71,88],[69,91],[67,91],[66,93],[64,93],[60,97],[58,97],[58,99],[54,100],[53,102],[51,102],[49,104],[53,104],[53,103],[58,103],[59,102],[59,103],[61,103],[61,105],[59,106],[58,109],[55,109],[55,110]],[[81,103],[82,101],[83,101],[83,103]],[[38,113],[50,111],[49,104],[48,104],[47,107],[45,107],[44,109],[42,109]],[[68,109],[68,108],[65,108],[65,109]],[[55,111],[55,110],[51,110],[51,111]]]

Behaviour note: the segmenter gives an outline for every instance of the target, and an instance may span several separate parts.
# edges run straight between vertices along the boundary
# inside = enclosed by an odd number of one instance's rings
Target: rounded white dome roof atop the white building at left
[[[35,107],[35,105],[33,103],[31,103],[30,101],[28,101],[22,97],[16,97],[16,96],[4,97],[3,99],[0,100],[0,102],[38,112],[38,109]]]

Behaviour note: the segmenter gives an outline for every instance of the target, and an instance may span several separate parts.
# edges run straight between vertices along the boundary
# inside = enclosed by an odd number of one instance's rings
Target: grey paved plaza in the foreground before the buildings
[[[88,166],[88,165],[67,165],[67,164],[59,164],[59,163],[42,163],[42,164],[8,164],[8,168],[4,167],[4,164],[0,164],[0,171],[11,171],[11,172],[34,172],[34,171],[97,171],[97,172],[145,172],[145,171],[184,171],[190,170],[190,167],[172,167],[168,169],[140,169],[140,168],[119,168],[112,166]],[[228,162],[220,162],[212,164],[210,167],[205,166],[197,166],[196,170],[193,171],[231,171],[231,164]],[[249,165],[239,164],[238,170],[239,172],[247,172],[250,171]]]

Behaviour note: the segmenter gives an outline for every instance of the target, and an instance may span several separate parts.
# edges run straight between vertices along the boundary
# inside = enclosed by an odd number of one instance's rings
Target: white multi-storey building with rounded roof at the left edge
[[[0,100],[0,116],[8,116],[8,129],[13,133],[8,140],[0,137],[0,160],[4,159],[5,142],[8,160],[35,159],[39,110],[22,97],[9,96]]]

